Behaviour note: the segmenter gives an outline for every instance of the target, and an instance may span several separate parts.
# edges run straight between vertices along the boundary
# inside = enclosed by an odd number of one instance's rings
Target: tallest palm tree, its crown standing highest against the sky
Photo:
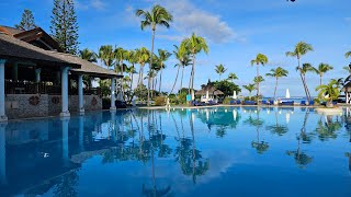
[[[150,50],[150,67],[152,66],[152,55],[154,55],[154,40],[155,40],[155,33],[156,33],[156,26],[166,26],[169,28],[169,23],[173,21],[173,16],[161,5],[154,5],[151,11],[144,11],[138,9],[135,13],[137,16],[143,16],[143,20],[140,22],[140,27],[144,31],[145,27],[150,26],[152,31],[152,37],[151,37],[151,50]],[[149,100],[150,100],[150,81],[148,82],[148,99],[147,99],[147,105],[149,106]]]

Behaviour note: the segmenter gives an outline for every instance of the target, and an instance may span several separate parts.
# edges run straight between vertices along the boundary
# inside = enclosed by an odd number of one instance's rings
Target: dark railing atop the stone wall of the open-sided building
[[[49,95],[60,95],[61,86],[53,85],[45,82],[12,82],[5,81],[4,83],[5,94],[49,94]],[[69,88],[69,95],[78,95],[77,88]],[[100,88],[90,88],[83,90],[84,95],[99,95],[102,96]]]

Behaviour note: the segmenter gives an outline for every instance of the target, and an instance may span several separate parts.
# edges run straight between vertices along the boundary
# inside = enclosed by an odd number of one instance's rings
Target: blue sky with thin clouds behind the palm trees
[[[173,45],[190,36],[192,32],[206,38],[208,55],[199,55],[195,88],[217,80],[215,65],[223,63],[229,72],[239,77],[239,85],[251,83],[256,69],[250,60],[258,53],[265,54],[270,63],[260,68],[262,74],[276,66],[290,71],[288,78],[280,81],[279,95],[288,88],[292,95],[304,95],[302,82],[295,71],[297,65],[285,51],[304,40],[315,51],[303,57],[303,62],[317,66],[327,62],[335,67],[325,76],[347,77],[342,70],[351,59],[344,53],[351,50],[351,2],[349,0],[75,0],[81,48],[97,50],[101,45],[116,45],[127,49],[150,47],[150,32],[140,31],[136,9],[149,9],[159,3],[174,16],[170,30],[158,28],[156,49],[173,50]],[[0,2],[0,24],[13,26],[20,22],[24,9],[34,13],[37,25],[49,32],[53,0],[3,0]],[[171,57],[165,71],[163,90],[169,91],[176,78],[177,62]],[[190,68],[184,76],[189,81]],[[307,81],[313,94],[318,77],[310,73]],[[179,85],[178,85],[179,86]],[[272,95],[273,79],[265,79],[261,85],[263,95]],[[242,94],[248,93],[244,90]]]

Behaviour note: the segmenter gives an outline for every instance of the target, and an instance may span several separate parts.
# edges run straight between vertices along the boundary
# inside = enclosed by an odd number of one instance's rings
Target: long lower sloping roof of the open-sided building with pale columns
[[[122,78],[121,74],[83,60],[78,56],[44,50],[3,33],[0,33],[0,58],[14,61],[29,60],[36,63],[45,63],[46,66],[69,66],[72,72],[86,73],[92,77]]]

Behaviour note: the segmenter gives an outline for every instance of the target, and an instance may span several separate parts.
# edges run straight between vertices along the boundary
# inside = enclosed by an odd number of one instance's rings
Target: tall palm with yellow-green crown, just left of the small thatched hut
[[[194,91],[196,54],[201,53],[202,50],[205,54],[208,54],[208,46],[206,44],[205,38],[196,36],[195,33],[193,33],[191,35],[191,37],[185,38],[183,42],[184,42],[186,48],[189,48],[190,54],[192,55],[192,62],[193,62],[193,66],[191,68],[190,83],[189,83],[189,94],[190,94],[190,89],[192,92]]]

